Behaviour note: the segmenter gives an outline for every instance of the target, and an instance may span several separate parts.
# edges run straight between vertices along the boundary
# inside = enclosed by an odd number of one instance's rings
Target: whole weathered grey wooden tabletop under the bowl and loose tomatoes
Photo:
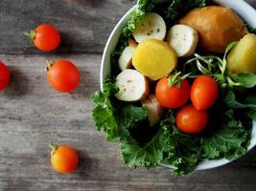
[[[254,7],[256,1],[250,0]],[[134,5],[128,0],[1,0],[0,60],[10,66],[12,82],[0,93],[0,190],[256,190],[256,150],[223,167],[175,178],[168,169],[130,169],[118,143],[94,129],[90,97],[99,90],[101,56],[120,17]],[[40,23],[54,24],[62,45],[40,53],[22,32]],[[45,60],[66,58],[81,70],[71,94],[51,89]],[[56,173],[48,143],[79,150],[79,169]]]

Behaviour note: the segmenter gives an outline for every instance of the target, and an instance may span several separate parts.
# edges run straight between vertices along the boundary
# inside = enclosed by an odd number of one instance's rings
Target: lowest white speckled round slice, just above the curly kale
[[[126,69],[116,76],[119,92],[116,97],[122,101],[139,101],[150,93],[149,80],[136,70]]]

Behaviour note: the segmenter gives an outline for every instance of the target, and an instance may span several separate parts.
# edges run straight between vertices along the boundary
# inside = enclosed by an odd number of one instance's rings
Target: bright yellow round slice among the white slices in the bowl
[[[168,43],[153,38],[142,41],[132,57],[132,65],[152,80],[173,72],[177,64],[175,51]]]

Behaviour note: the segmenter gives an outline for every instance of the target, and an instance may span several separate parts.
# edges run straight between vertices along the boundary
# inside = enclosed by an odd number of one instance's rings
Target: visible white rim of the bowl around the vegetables
[[[248,5],[244,0],[215,0],[216,3],[229,7],[236,11],[242,18],[244,18],[245,23],[247,23],[251,27],[256,27],[256,11]],[[130,13],[135,11],[137,6],[131,8],[118,22],[115,26],[113,32],[111,32],[106,45],[105,51],[102,58],[102,65],[101,65],[101,74],[100,74],[100,82],[101,82],[101,89],[103,90],[103,82],[105,76],[110,74],[110,56],[111,53],[114,52],[115,47],[118,43],[119,36],[121,35],[123,29],[125,28],[126,24],[128,23],[128,19],[130,18]],[[251,134],[251,142],[248,146],[248,151],[251,150],[256,145],[256,121],[253,121],[253,130]],[[196,170],[205,170],[210,168],[215,168],[226,163],[229,163],[230,160],[227,159],[214,159],[214,160],[202,160]],[[166,166],[169,168],[173,168],[171,165],[161,164],[162,166]]]

